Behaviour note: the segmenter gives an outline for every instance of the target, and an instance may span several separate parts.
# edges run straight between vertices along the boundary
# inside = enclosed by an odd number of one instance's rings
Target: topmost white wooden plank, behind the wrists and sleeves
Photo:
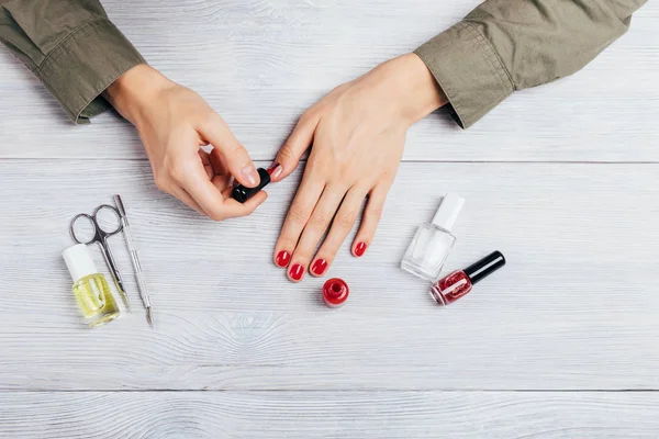
[[[155,67],[198,90],[253,157],[269,160],[299,115],[332,88],[410,52],[479,0],[105,0]],[[406,160],[658,161],[659,7],[583,71],[516,93],[463,132],[445,114],[414,126]],[[144,158],[113,114],[70,124],[0,50],[0,157]],[[52,130],[44,130],[48,126]]]

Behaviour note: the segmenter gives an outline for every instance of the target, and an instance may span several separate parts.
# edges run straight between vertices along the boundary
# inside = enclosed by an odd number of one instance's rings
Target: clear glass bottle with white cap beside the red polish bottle
[[[433,222],[422,224],[405,251],[401,268],[427,281],[434,282],[453,249],[456,237],[450,233],[465,199],[448,193],[442,200]]]

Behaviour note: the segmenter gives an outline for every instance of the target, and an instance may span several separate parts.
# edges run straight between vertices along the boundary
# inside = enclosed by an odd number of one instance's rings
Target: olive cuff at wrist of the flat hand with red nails
[[[512,94],[510,75],[492,45],[476,26],[462,21],[416,50],[449,101],[449,112],[462,128]]]

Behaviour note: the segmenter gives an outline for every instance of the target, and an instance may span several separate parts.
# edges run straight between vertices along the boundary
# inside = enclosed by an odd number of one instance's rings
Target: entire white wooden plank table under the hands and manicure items
[[[331,88],[477,3],[104,1],[263,165]],[[0,50],[0,437],[659,437],[658,19],[650,2],[583,71],[467,132],[417,124],[372,247],[331,269],[351,288],[337,311],[323,280],[271,263],[299,173],[254,215],[206,221],[158,192],[126,122],[74,126]],[[399,262],[447,191],[467,199],[447,269],[496,249],[509,264],[443,309]],[[120,237],[135,312],[90,330],[74,304],[68,222],[113,193],[156,330]]]

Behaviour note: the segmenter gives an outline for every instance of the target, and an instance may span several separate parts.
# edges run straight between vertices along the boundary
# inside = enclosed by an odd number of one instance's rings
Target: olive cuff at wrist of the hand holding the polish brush
[[[37,70],[76,123],[110,108],[101,93],[144,58],[109,20],[87,23],[64,38]]]

